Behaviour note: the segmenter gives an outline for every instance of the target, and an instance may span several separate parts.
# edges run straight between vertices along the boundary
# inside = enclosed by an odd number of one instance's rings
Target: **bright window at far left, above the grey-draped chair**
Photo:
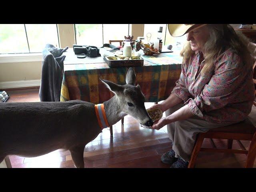
[[[0,54],[42,52],[46,44],[59,47],[56,24],[0,24]]]

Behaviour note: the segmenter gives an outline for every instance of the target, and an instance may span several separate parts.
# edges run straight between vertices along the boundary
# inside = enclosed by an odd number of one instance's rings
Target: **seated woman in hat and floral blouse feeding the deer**
[[[254,84],[248,40],[229,24],[169,24],[172,36],[187,34],[180,79],[160,108],[172,150],[162,155],[171,168],[187,168],[196,135],[244,120],[252,109]]]

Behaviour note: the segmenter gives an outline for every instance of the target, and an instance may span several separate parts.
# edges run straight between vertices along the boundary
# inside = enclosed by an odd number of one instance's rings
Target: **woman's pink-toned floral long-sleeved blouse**
[[[255,98],[252,68],[244,67],[240,56],[231,49],[215,60],[212,75],[202,76],[203,66],[203,54],[196,51],[190,60],[183,62],[172,94],[204,120],[217,123],[244,120]]]

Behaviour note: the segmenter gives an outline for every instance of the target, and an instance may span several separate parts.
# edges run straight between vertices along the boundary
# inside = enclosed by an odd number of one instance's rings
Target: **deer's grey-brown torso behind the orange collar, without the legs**
[[[2,103],[0,122],[0,151],[13,154],[68,149],[101,132],[94,104],[80,100]]]

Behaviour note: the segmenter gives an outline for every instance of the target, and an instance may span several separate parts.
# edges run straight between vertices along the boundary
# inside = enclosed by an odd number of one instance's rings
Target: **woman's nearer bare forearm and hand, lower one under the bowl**
[[[165,118],[161,118],[158,121],[155,121],[153,126],[150,127],[150,129],[156,129],[159,130],[163,126],[175,122],[175,121],[180,121],[180,120],[185,120],[190,117],[194,116],[194,114],[190,111],[188,108],[188,105],[183,106],[179,110],[175,111],[174,113],[170,114],[169,116]]]

